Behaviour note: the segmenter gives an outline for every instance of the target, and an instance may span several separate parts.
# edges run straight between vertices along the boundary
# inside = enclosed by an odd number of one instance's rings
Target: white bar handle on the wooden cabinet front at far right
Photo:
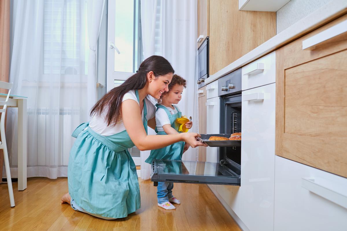
[[[302,42],[303,50],[314,50],[316,45],[345,32],[347,32],[347,20],[305,39]]]

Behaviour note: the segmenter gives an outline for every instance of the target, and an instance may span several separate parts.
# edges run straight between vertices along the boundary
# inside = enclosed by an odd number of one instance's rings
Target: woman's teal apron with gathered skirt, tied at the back
[[[139,101],[138,92],[136,92]],[[143,126],[147,133],[144,101]],[[140,189],[135,163],[128,152],[134,143],[126,130],[103,136],[89,123],[79,125],[72,136],[68,166],[69,194],[87,212],[121,218],[140,208]]]

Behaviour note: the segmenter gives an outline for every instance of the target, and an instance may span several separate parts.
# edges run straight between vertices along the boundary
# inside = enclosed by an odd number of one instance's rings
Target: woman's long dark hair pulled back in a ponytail
[[[152,55],[145,59],[136,74],[125,80],[122,85],[115,87],[104,95],[92,108],[90,115],[102,115],[107,111],[105,122],[107,125],[116,125],[121,118],[121,103],[125,93],[130,90],[142,89],[147,82],[147,73],[153,71],[155,77],[174,73],[169,61],[164,57]]]

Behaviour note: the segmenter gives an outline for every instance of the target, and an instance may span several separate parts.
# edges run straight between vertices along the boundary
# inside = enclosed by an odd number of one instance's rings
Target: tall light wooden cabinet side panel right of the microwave
[[[210,75],[276,35],[276,12],[240,11],[238,0],[213,0],[209,17]]]

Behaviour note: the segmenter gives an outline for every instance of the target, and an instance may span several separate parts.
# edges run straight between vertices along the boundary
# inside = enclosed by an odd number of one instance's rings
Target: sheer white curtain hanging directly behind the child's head
[[[196,92],[197,0],[141,0],[141,27],[144,58],[165,57],[175,74],[187,80],[187,88],[178,104],[183,115],[193,117],[191,132],[198,131]],[[155,132],[149,128],[149,134]],[[150,177],[150,165],[144,160],[150,151],[141,152],[141,178]],[[189,148],[183,160],[197,160],[197,148]]]

